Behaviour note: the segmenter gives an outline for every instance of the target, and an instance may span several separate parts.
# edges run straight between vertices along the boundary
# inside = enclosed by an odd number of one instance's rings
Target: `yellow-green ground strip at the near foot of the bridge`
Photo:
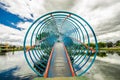
[[[89,80],[89,79],[85,76],[81,76],[81,77],[54,77],[54,78],[37,77],[33,80]]]

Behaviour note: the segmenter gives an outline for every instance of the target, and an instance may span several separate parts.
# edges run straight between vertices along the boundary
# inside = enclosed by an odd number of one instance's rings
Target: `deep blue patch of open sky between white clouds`
[[[24,28],[17,26],[19,22],[33,22],[33,20],[28,18],[21,18],[19,15],[12,14],[7,10],[0,8],[0,24],[17,30],[23,30]]]

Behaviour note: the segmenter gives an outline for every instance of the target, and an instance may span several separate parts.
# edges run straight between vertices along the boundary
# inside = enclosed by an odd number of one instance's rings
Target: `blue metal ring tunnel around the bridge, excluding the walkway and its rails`
[[[24,56],[30,68],[37,75],[43,76],[50,50],[54,43],[59,41],[65,44],[77,75],[86,73],[98,52],[97,38],[86,20],[66,11],[47,13],[34,21],[27,30],[24,38]],[[90,49],[91,42],[95,43],[94,54]],[[28,51],[27,45],[31,47]],[[92,54],[93,58],[90,61]]]

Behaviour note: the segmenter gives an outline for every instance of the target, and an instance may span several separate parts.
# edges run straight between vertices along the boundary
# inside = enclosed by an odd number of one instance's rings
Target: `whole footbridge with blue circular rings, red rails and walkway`
[[[82,17],[65,11],[39,17],[24,38],[28,65],[45,78],[81,76],[94,63],[97,50],[92,27]]]

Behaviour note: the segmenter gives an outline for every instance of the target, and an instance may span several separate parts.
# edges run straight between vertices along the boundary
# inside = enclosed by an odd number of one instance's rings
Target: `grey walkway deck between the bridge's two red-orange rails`
[[[57,42],[54,46],[48,77],[69,76],[72,76],[72,74],[65,54],[64,45],[61,42]]]

